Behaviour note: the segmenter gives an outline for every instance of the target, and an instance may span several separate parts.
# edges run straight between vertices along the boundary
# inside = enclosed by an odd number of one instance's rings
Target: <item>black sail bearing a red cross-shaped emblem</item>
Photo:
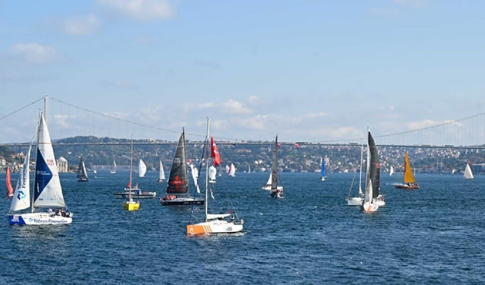
[[[180,139],[178,139],[167,185],[167,194],[185,194],[189,191],[187,162],[185,159],[185,134],[183,131]]]

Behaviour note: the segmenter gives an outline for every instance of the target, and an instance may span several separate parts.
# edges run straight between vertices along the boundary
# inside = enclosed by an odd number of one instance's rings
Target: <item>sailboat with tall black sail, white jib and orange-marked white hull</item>
[[[379,208],[379,188],[380,188],[380,165],[379,152],[375,146],[371,131],[367,129],[367,165],[365,179],[365,193],[362,210],[366,213],[372,213]]]

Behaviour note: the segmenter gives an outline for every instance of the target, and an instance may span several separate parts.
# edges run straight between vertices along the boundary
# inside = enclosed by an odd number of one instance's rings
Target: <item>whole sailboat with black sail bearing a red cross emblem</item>
[[[185,132],[178,139],[174,160],[170,168],[167,183],[167,194],[162,199],[162,205],[204,205],[204,199],[191,197],[189,192],[189,174],[185,155]]]

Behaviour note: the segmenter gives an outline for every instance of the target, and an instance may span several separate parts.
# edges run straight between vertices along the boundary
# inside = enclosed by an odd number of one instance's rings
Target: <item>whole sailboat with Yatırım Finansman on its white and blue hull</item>
[[[50,141],[49,130],[42,111],[39,111],[37,124],[37,154],[35,157],[35,177],[32,187],[32,205],[29,201],[29,157],[25,157],[22,174],[14,192],[8,220],[10,224],[65,224],[72,223],[73,213],[66,211],[56,159]],[[14,214],[14,211],[31,207],[30,213]],[[47,212],[36,212],[36,209],[49,209]],[[52,211],[51,208],[57,208]]]

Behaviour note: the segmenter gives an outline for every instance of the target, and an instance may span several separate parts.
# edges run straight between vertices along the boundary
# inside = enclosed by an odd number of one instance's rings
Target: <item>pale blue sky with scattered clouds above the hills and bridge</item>
[[[53,138],[329,141],[485,109],[485,2],[0,0],[0,116],[51,101]],[[2,120],[26,141],[40,104]],[[485,141],[484,116],[377,143]],[[190,135],[188,136],[190,138]],[[195,136],[193,138],[196,138]]]

